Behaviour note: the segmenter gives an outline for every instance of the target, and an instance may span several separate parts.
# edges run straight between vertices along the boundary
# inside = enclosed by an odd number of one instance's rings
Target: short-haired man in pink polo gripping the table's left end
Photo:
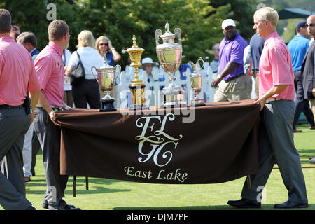
[[[41,92],[35,109],[34,130],[43,148],[43,165],[47,191],[43,208],[50,210],[77,210],[62,199],[68,176],[60,175],[60,127],[55,123],[55,111],[69,109],[64,104],[64,65],[62,50],[69,44],[69,27],[62,20],[53,20],[48,26],[49,44],[34,62]]]

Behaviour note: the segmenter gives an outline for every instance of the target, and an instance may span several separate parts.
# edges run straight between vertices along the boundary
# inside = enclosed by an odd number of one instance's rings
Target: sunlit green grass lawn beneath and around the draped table
[[[304,178],[307,186],[309,208],[315,210],[315,165],[309,157],[315,156],[315,130],[307,125],[298,125],[302,133],[295,133],[295,146],[300,152]],[[275,166],[276,167],[276,166]],[[89,190],[85,190],[85,177],[78,176],[76,197],[73,197],[73,177],[69,177],[64,200],[84,210],[124,210],[124,209],[235,209],[226,204],[228,200],[238,200],[244,178],[227,183],[167,185],[134,183],[113,179],[89,178]],[[27,199],[36,209],[41,203],[46,189],[41,153],[37,156],[36,176],[26,183]],[[261,209],[273,209],[274,204],[285,202],[288,193],[283,185],[279,169],[273,169]],[[1,209],[1,207],[0,207]]]

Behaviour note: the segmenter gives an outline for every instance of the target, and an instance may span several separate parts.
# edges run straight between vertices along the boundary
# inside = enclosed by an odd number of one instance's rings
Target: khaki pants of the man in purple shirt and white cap
[[[214,94],[214,102],[251,99],[251,85],[251,76],[246,74],[238,76],[230,82],[222,81]]]

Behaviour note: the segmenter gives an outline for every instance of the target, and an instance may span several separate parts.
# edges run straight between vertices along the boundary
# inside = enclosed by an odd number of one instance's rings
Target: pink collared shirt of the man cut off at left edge
[[[29,91],[39,91],[38,78],[29,52],[13,37],[0,39],[0,104],[19,106]]]

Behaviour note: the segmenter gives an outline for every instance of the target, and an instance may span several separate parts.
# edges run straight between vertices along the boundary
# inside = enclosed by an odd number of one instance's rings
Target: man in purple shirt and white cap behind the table
[[[216,90],[214,102],[250,99],[251,77],[246,76],[243,69],[244,49],[248,43],[237,32],[234,20],[224,20],[222,29],[225,38],[219,47],[219,75],[211,83],[211,87],[216,88],[222,80],[224,82]]]

